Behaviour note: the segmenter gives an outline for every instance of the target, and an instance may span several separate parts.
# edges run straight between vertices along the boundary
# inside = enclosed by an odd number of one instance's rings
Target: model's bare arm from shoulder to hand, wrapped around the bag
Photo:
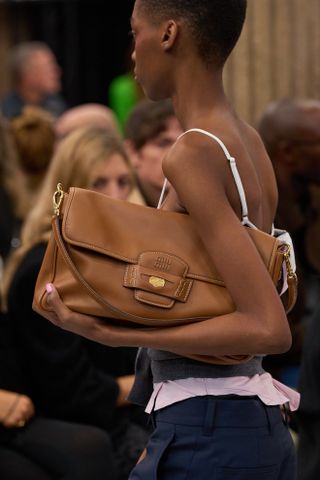
[[[191,136],[182,140],[166,159],[165,173],[223,278],[235,311],[197,325],[131,330],[71,313],[54,290],[49,298],[57,315],[51,319],[112,346],[204,355],[286,351],[291,344],[286,315],[263,261],[230,205],[227,190],[233,179],[228,178],[226,158],[220,147],[208,148],[207,141],[195,142]]]

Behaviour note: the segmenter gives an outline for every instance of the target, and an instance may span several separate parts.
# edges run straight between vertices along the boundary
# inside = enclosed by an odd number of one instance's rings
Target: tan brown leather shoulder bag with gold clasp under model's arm
[[[52,235],[34,294],[33,308],[40,314],[49,311],[47,283],[56,286],[71,310],[132,327],[201,322],[234,310],[189,215],[80,188],[64,193],[59,186],[54,199]],[[286,272],[290,309],[296,298],[290,246],[260,230],[243,228],[275,288],[281,288]],[[190,357],[221,364],[250,358]]]

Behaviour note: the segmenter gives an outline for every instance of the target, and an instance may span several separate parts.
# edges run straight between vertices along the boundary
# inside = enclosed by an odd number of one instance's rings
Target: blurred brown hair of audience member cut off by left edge
[[[0,118],[0,258],[16,246],[27,193],[9,124]]]

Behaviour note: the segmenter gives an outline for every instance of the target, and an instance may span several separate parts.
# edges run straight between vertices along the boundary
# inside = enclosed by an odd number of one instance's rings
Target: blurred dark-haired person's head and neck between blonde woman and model
[[[162,160],[181,133],[169,100],[144,100],[132,110],[125,128],[125,145],[143,198],[135,194],[131,201],[157,206],[164,182]]]

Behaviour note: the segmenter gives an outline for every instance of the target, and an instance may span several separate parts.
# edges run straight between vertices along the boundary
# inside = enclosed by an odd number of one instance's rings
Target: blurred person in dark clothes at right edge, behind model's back
[[[293,347],[271,365],[296,368],[301,393],[298,426],[298,480],[320,478],[320,102],[273,103],[260,121],[260,133],[279,187],[277,226],[292,234],[298,266],[297,308],[289,314]],[[303,338],[304,337],[304,338]],[[303,343],[302,343],[303,340]],[[271,357],[267,361],[270,362]],[[291,377],[292,378],[292,377]]]

